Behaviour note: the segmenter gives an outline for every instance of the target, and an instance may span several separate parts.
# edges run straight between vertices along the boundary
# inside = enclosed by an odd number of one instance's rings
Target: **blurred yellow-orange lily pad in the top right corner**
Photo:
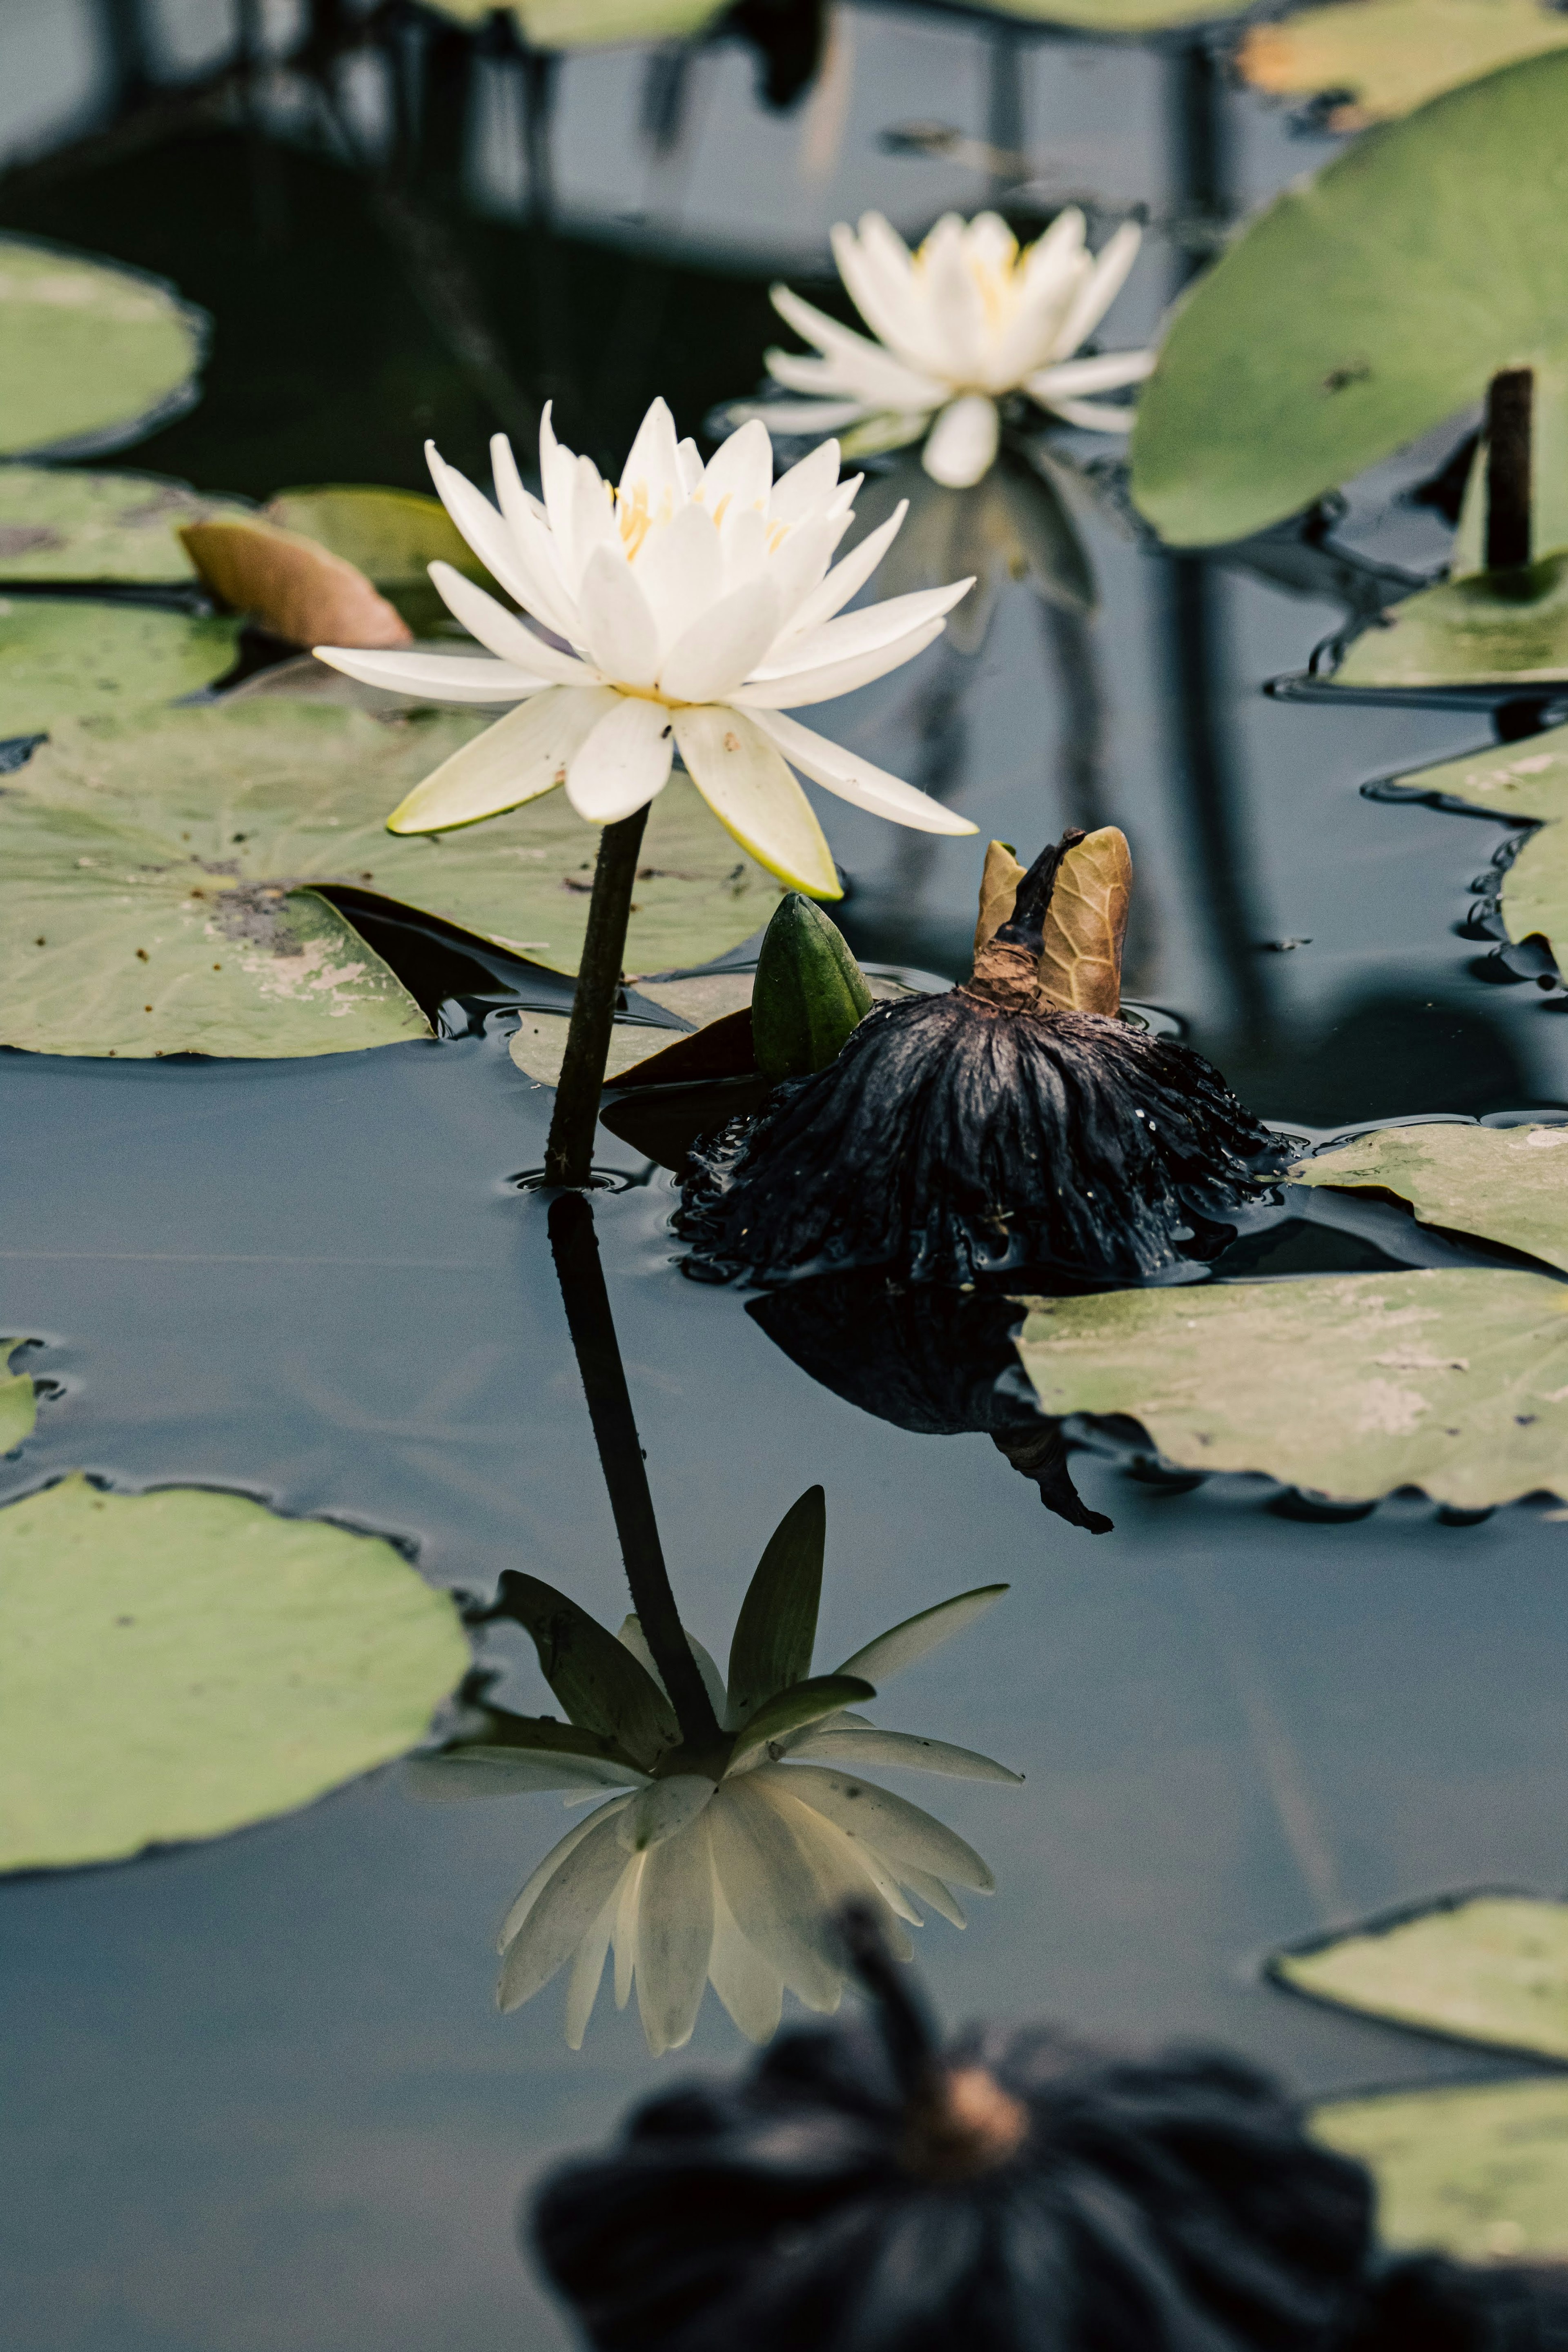
[[[1331,129],[1408,115],[1441,89],[1568,42],[1544,0],[1335,0],[1255,24],[1241,75],[1279,99],[1333,96]]]

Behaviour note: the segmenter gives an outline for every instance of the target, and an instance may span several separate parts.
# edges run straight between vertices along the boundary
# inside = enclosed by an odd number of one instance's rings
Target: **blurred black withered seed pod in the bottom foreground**
[[[599,2352],[1561,2352],[1568,2272],[1389,2260],[1366,2171],[1267,2074],[1048,2027],[788,2034],[545,2183]]]

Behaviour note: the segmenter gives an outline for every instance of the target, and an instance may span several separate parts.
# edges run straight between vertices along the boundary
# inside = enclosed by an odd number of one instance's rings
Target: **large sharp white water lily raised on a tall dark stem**
[[[430,564],[447,609],[494,654],[315,652],[348,677],[428,701],[517,703],[393,809],[393,833],[447,833],[557,786],[595,826],[663,790],[675,753],[698,793],[762,866],[816,898],[839,898],[823,830],[790,774],[924,833],[973,833],[926,793],[830,743],[799,720],[912,661],[971,586],[926,588],[844,612],[903,515],[832,564],[858,477],[839,482],[837,442],[773,480],[773,445],[750,423],[703,466],[656,400],[621,485],[564,449],[545,409],[543,506],[491,442],[498,508],[428,445],[430,473],[468,546],[529,621]],[[830,569],[832,567],[832,569]],[[541,635],[538,630],[548,630]]]

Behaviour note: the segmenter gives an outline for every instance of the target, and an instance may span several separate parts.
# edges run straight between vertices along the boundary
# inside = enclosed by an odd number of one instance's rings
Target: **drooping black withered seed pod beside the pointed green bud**
[[[686,1272],[1140,1282],[1220,1254],[1291,1152],[1201,1054],[1053,1002],[1041,948],[1081,840],[1023,875],[961,988],[877,1004],[827,1070],[693,1148]]]

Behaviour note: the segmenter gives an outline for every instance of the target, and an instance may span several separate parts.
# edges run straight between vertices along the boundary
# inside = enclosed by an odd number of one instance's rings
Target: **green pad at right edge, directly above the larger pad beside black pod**
[[[1568,1272],[1568,1127],[1380,1127],[1291,1176],[1387,1192],[1422,1225],[1479,1232]]]

